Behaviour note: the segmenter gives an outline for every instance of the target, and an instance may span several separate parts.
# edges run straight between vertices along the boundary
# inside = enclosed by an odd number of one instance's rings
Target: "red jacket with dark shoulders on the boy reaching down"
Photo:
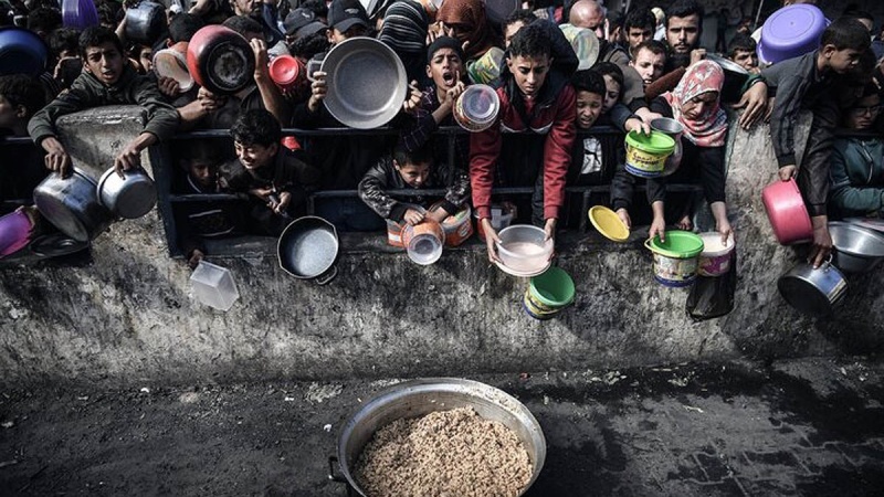
[[[551,74],[550,74],[551,76]],[[505,86],[497,88],[501,112],[497,123],[488,129],[470,136],[470,182],[473,190],[473,207],[478,218],[491,218],[491,190],[494,168],[501,155],[501,131],[525,131],[548,135],[544,141],[544,219],[558,219],[565,204],[565,178],[571,162],[577,119],[576,93],[570,84],[558,85],[550,81],[545,86],[559,87],[558,92],[540,92],[537,99],[525,101],[524,119],[507,96]],[[509,86],[518,92],[515,84]],[[551,88],[545,88],[551,89]],[[547,98],[545,94],[554,93]],[[535,106],[538,106],[536,110]]]

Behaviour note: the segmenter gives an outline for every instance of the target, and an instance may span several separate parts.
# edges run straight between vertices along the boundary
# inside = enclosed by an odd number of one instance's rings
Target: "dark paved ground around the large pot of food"
[[[884,364],[870,358],[474,379],[544,430],[530,497],[884,488]],[[7,389],[0,495],[344,496],[327,478],[338,433],[398,381]]]

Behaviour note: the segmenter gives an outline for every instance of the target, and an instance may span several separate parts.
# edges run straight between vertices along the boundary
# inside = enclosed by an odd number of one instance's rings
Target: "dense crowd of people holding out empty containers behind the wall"
[[[125,12],[134,8],[128,2],[96,0],[99,24],[78,32],[62,25],[56,0],[6,1],[0,0],[0,11],[8,11],[0,12],[0,24],[23,23],[36,33],[50,62],[36,77],[0,67],[0,133],[30,136],[39,146],[0,169],[2,200],[28,198],[48,171],[69,173],[71,158],[56,136],[59,117],[103,105],[140,105],[148,116],[144,130],[116,156],[117,169],[138,167],[143,150],[168,144],[180,166],[173,193],[238,192],[249,199],[176,207],[179,242],[191,264],[206,255],[207,239],[278,235],[317,190],[358,190],[358,198],[315,208],[344,230],[379,230],[385,220],[440,221],[469,203],[495,261],[492,208],[501,202],[516,203],[522,220],[554,239],[566,186],[611,183],[610,207],[632,226],[645,207],[634,201],[633,191],[644,183],[649,236],[663,237],[666,226],[693,229],[697,204],[667,197],[666,184],[698,183],[715,230],[726,240],[734,230],[725,194],[728,128],[768,121],[779,178],[797,176],[808,205],[815,264],[832,247],[830,216],[880,215],[884,207],[878,119],[884,43],[873,32],[872,15],[856,9],[829,25],[817,50],[766,67],[759,66],[751,20],[740,20],[727,41],[719,29],[716,51],[751,74],[734,106],[743,112],[732,119],[722,103],[725,73],[707,60],[701,43],[704,19],[715,13],[697,0],[624,13],[596,0],[526,1],[498,23],[490,21],[482,0],[387,0],[372,3],[370,12],[358,0],[173,0],[167,29],[149,43],[126,39]],[[799,2],[783,2],[790,3]],[[720,28],[728,15],[718,14]],[[249,41],[255,70],[245,88],[223,95],[199,85],[185,91],[152,71],[152,53],[186,52],[194,33],[213,23]],[[580,55],[565,35],[570,27],[592,32],[598,41],[589,68],[578,70]],[[291,55],[307,64],[356,36],[386,43],[406,68],[408,95],[389,124],[398,133],[284,139],[283,128],[343,125],[323,103],[327,74],[316,71],[299,85],[280,87],[269,63]],[[435,131],[455,125],[453,108],[471,84],[495,88],[497,119],[482,131],[455,136],[449,147]],[[794,129],[801,110],[813,113],[813,124],[797,175]],[[648,134],[659,117],[684,129],[682,165],[667,178],[631,176],[623,168],[622,139],[612,146],[591,133],[603,125]],[[196,129],[229,129],[231,140],[173,139]],[[528,187],[534,194],[499,197],[497,187]],[[441,207],[429,213],[414,204],[427,207],[440,198],[390,193],[427,188],[446,191]]]

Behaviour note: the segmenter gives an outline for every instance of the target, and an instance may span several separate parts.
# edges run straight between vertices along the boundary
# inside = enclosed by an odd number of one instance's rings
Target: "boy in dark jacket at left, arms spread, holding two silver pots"
[[[157,84],[139,76],[124,56],[123,44],[107,28],[93,27],[80,36],[83,73],[67,93],[59,95],[28,124],[34,144],[46,151],[46,168],[67,173],[71,157],[56,138],[59,117],[102,105],[140,105],[147,109],[147,123],[114,159],[117,171],[140,165],[141,150],[169,138],[178,128],[178,113],[162,101]]]

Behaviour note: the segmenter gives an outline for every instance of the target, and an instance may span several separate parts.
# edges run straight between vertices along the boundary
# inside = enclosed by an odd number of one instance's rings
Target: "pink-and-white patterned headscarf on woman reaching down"
[[[720,105],[722,85],[725,73],[722,66],[712,61],[699,61],[687,67],[682,81],[672,92],[663,94],[663,98],[672,107],[672,115],[684,126],[684,136],[698,147],[720,147],[727,136],[727,114]],[[718,92],[709,110],[697,119],[690,119],[682,114],[682,104],[704,93]]]

